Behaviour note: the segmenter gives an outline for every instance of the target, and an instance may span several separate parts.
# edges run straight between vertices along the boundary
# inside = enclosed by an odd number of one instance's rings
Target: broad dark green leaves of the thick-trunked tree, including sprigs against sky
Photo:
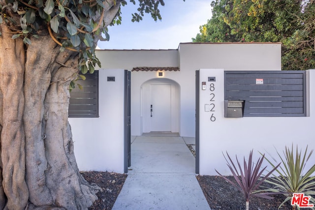
[[[48,30],[50,36],[65,49],[79,52],[79,69],[82,73],[93,73],[96,64],[96,41],[108,41],[109,34],[104,27],[105,9],[126,5],[126,0],[4,0],[0,5],[0,23],[5,23],[13,31],[12,38],[23,38],[25,44],[32,44],[30,36]],[[130,0],[135,4],[135,0]],[[132,21],[140,21],[144,13],[150,13],[155,20],[161,19],[159,5],[163,0],[138,0],[138,13]],[[99,18],[100,17],[100,18]],[[112,25],[121,24],[121,10]],[[0,34],[1,35],[1,34]],[[105,35],[105,37],[102,37]]]

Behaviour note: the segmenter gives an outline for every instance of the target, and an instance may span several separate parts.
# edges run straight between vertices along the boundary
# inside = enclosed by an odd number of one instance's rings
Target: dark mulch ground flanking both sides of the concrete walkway
[[[126,180],[126,174],[110,172],[81,172],[89,183],[96,183],[102,190],[96,195],[90,210],[111,210],[116,198]],[[201,189],[209,203],[211,210],[244,210],[245,199],[243,194],[233,185],[219,176],[197,176]],[[277,210],[284,201],[283,195],[276,195],[272,200],[253,197],[250,201],[250,210]],[[292,209],[289,202],[282,210]],[[309,208],[303,210],[310,210]]]

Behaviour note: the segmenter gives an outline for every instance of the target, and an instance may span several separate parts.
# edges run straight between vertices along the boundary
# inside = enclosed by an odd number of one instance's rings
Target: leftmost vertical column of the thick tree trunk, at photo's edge
[[[24,44],[11,39],[2,27],[0,37],[1,208],[23,209],[28,201],[25,182],[25,134],[23,124]],[[10,37],[10,40],[7,38]]]

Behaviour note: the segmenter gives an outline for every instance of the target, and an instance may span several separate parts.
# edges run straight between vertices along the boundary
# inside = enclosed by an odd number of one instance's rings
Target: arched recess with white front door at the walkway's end
[[[167,78],[144,82],[140,88],[143,133],[179,132],[180,86]]]

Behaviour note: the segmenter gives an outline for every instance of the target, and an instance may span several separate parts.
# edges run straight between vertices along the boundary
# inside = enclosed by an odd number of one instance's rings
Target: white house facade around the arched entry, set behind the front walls
[[[164,78],[180,85],[181,136],[195,136],[195,70],[281,70],[280,43],[182,43],[178,50],[100,50],[102,68],[180,67],[166,71]],[[157,78],[157,72],[131,73],[131,135],[142,134],[140,88]],[[101,82],[101,81],[100,81]]]

